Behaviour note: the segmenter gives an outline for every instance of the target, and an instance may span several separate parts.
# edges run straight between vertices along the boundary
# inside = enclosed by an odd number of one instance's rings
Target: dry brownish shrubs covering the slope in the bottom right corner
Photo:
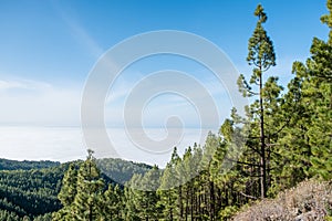
[[[232,220],[241,221],[311,221],[332,215],[332,181],[303,181],[239,212]]]

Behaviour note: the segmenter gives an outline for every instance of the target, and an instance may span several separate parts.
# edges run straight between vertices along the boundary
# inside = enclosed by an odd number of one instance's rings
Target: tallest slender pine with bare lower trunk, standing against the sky
[[[258,137],[259,140],[249,140],[251,141],[249,146],[251,146],[250,148],[258,152],[260,158],[260,197],[264,198],[267,197],[268,190],[267,158],[269,138],[267,135],[266,115],[267,110],[270,108],[267,105],[278,97],[281,87],[277,85],[277,77],[270,77],[266,84],[263,82],[263,73],[267,72],[271,66],[276,65],[276,54],[273,50],[273,43],[262,27],[268,18],[261,4],[257,7],[255,15],[258,18],[258,22],[252,36],[249,39],[249,53],[247,56],[249,65],[253,65],[253,71],[249,83],[245,80],[243,75],[240,75],[238,84],[239,91],[243,94],[243,96],[258,96],[258,99],[248,108],[248,115],[251,118],[250,122],[256,122],[257,125],[252,125],[250,136]],[[252,85],[258,86],[257,92],[252,90]],[[274,90],[272,91],[272,88]]]

